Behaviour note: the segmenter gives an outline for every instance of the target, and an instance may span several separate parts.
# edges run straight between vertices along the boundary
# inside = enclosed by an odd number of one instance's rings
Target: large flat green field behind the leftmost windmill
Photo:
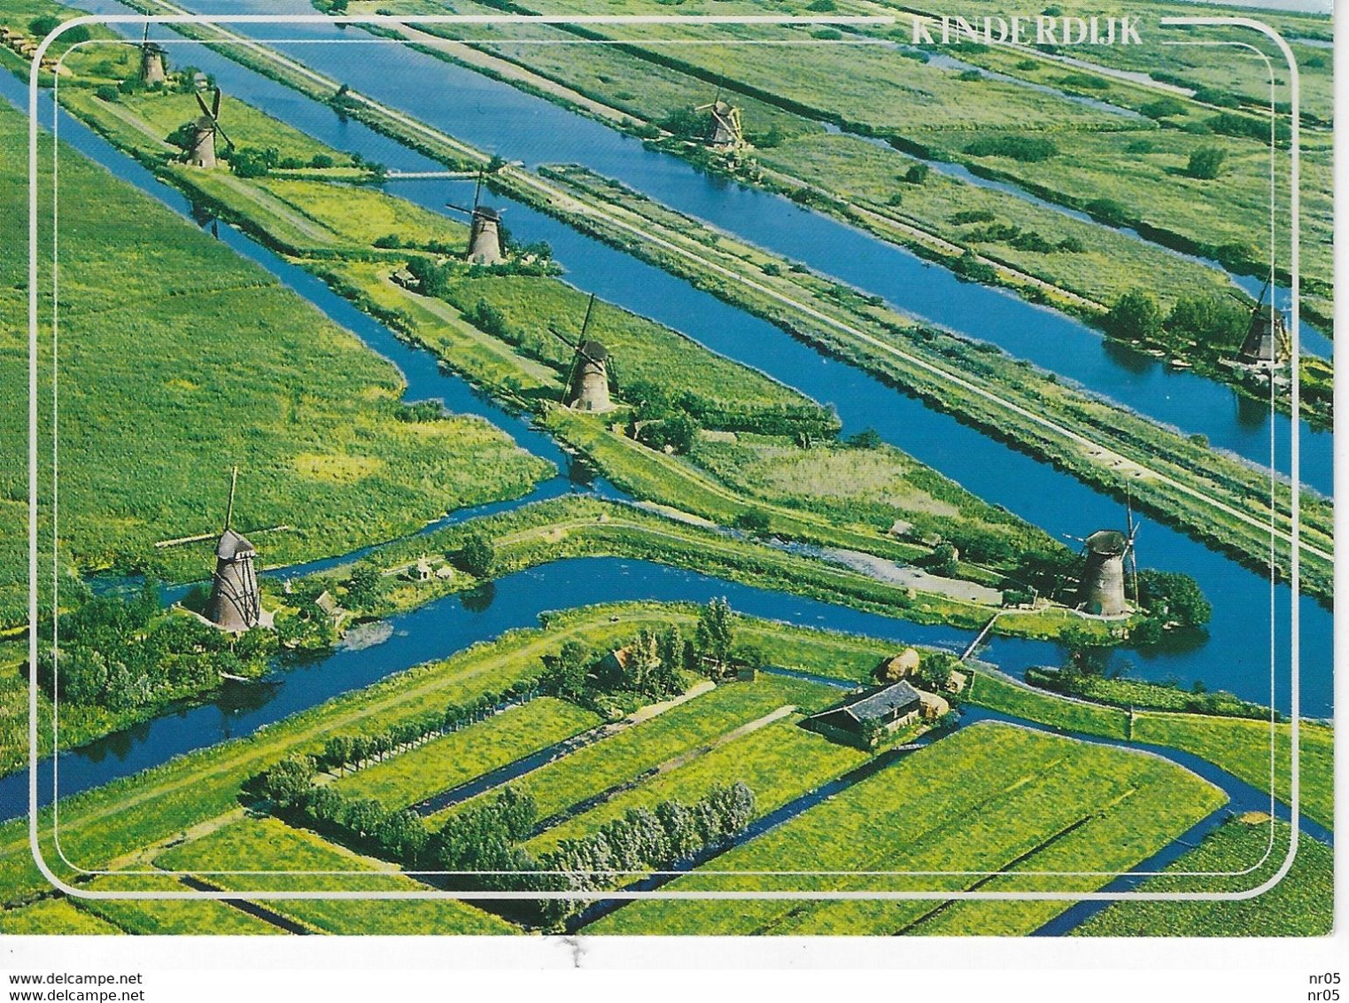
[[[0,109],[4,135],[22,128]],[[0,188],[18,216],[26,167],[19,144],[4,148]],[[293,526],[260,541],[268,564],[399,536],[518,495],[546,471],[482,420],[398,421],[397,371],[259,267],[69,151],[61,182],[61,239],[80,247],[61,273],[61,536],[80,567],[204,574],[209,547],[179,548],[167,564],[150,544],[219,525],[235,463],[236,525]],[[13,309],[24,258],[15,244],[0,256]],[[136,354],[119,350],[132,342]],[[0,351],[18,400],[26,347],[11,332]],[[20,410],[7,412],[4,441],[22,440]],[[150,425],[154,437],[125,435]],[[11,502],[26,493],[15,478],[4,482]],[[0,516],[13,547],[19,506]],[[22,562],[5,553],[12,618]]]

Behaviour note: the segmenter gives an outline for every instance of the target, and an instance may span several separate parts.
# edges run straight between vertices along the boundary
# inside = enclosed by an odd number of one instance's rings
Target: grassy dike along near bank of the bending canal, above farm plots
[[[629,602],[567,610],[549,617],[545,629],[507,632],[448,659],[343,694],[252,736],[188,753],[162,767],[67,798],[61,803],[62,848],[71,863],[86,868],[136,861],[147,848],[236,813],[240,786],[250,776],[286,756],[320,751],[331,734],[374,734],[391,724],[440,710],[449,701],[465,703],[488,690],[499,691],[510,682],[537,672],[538,659],[556,652],[567,640],[576,639],[600,648],[641,628],[654,629],[677,622],[685,630],[691,629],[695,614],[696,610],[689,606]],[[839,652],[850,652],[853,663],[859,664],[870,653],[893,651],[894,647],[871,639],[745,617],[739,618],[739,629],[746,640],[762,643],[769,660],[819,674],[836,671]],[[973,693],[973,699],[986,706],[1050,725],[1059,724],[1058,714],[1071,706],[1048,694],[1035,694],[1033,702],[1012,705],[998,695],[997,688],[985,687],[987,680],[989,676],[981,675]],[[1180,740],[1184,740],[1188,728],[1225,729],[1232,722],[1230,718],[1176,717]],[[1240,733],[1237,737],[1241,740]],[[1252,755],[1257,755],[1257,741],[1252,741]],[[1226,760],[1217,761],[1232,768]],[[1306,783],[1323,784],[1329,791],[1329,771],[1309,772]],[[1259,782],[1259,778],[1252,778],[1252,782]],[[51,845],[51,818],[50,809],[42,811],[38,830],[49,861],[57,861]],[[73,877],[69,872],[62,873]],[[16,819],[0,826],[0,902],[12,907],[42,898],[46,892],[47,886],[28,855],[27,821]]]

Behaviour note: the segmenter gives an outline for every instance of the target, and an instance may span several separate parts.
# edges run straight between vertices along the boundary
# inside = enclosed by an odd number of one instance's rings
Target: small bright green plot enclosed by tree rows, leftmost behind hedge
[[[389,809],[405,807],[599,722],[599,715],[575,703],[540,697],[341,778],[337,790],[349,798],[374,798]]]

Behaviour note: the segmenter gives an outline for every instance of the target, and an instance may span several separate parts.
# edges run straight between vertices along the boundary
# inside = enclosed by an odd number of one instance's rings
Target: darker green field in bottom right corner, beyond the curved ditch
[[[1139,891],[1246,891],[1267,882],[1288,852],[1290,829],[1267,815],[1234,818],[1167,871],[1234,872],[1268,857],[1238,877],[1161,875]],[[1240,902],[1116,902],[1072,931],[1074,937],[1325,937],[1331,930],[1334,850],[1302,836],[1287,876],[1255,899]]]

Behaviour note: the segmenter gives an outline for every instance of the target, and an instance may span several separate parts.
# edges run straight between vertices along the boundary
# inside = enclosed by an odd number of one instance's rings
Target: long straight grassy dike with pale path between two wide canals
[[[200,32],[200,28],[185,31],[194,36],[201,36]],[[206,36],[210,38],[210,34]],[[337,89],[320,74],[260,47],[250,47],[243,57],[232,49],[221,46],[221,51],[231,58],[260,70],[266,67],[268,76],[316,100],[328,100]],[[409,142],[448,165],[464,167],[487,161],[486,154],[359,94],[348,92],[344,104],[349,113],[371,127]],[[568,181],[577,181],[580,174],[588,173],[571,169],[568,174]],[[828,302],[828,294],[824,302],[819,297],[799,302],[803,275],[799,269],[791,277],[762,273],[764,265],[774,265],[785,273],[789,262],[776,262],[743,246],[738,254],[727,254],[726,248],[734,244],[731,239],[723,234],[712,235],[689,220],[681,221],[680,232],[668,232],[654,216],[673,213],[646,202],[641,196],[614,196],[612,189],[594,175],[581,186],[590,190],[575,186],[560,189],[556,182],[556,177],[538,178],[514,169],[494,177],[494,184],[513,197],[530,201],[585,232],[689,278],[793,335],[878,373],[962,421],[1064,467],[1098,489],[1122,494],[1121,483],[1129,478],[1135,498],[1152,514],[1179,525],[1249,567],[1267,570],[1263,555],[1269,548],[1271,514],[1257,499],[1267,497],[1268,481],[1256,468],[1064,387],[1052,379],[1052,374],[1000,356],[987,351],[986,346],[919,328],[902,317],[882,315],[877,319],[874,313],[880,308],[861,297],[857,297],[859,305],[842,313],[836,302]],[[654,212],[634,212],[633,205],[619,208],[612,201],[596,202],[600,186],[610,192],[608,198],[630,198],[634,204],[643,202],[641,209]],[[625,212],[627,219],[622,219]],[[715,250],[712,243],[718,244]],[[720,256],[712,261],[718,254]],[[827,279],[819,282],[836,290],[832,296],[835,301],[851,296]],[[900,337],[905,339],[900,342],[902,350],[894,347]],[[956,373],[965,378],[956,377]],[[971,385],[967,377],[978,383]],[[1048,414],[1052,420],[1044,417]],[[1137,459],[1140,456],[1147,459]],[[1205,474],[1198,475],[1193,472],[1195,470]],[[1284,533],[1288,526],[1286,494],[1287,487],[1280,491],[1283,499],[1275,499],[1276,510],[1272,513],[1275,525]],[[1313,495],[1303,497],[1300,540],[1302,586],[1322,602],[1329,602],[1329,505]],[[1286,547],[1286,543],[1280,544],[1280,548]],[[1286,555],[1276,556],[1273,570],[1280,576],[1287,575]]]

